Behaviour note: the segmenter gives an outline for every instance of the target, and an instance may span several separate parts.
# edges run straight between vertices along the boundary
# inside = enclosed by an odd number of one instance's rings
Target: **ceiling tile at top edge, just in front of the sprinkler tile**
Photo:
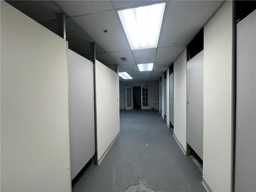
[[[110,1],[55,1],[69,16],[78,16],[100,11],[111,10]]]

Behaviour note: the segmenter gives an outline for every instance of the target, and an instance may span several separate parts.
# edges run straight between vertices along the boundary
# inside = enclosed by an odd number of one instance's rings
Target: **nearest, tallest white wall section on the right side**
[[[203,178],[213,191],[232,189],[232,3],[204,26]]]

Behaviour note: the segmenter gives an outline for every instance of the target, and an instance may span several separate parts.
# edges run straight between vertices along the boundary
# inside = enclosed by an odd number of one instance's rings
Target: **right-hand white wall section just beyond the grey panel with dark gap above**
[[[184,153],[187,146],[187,74],[186,49],[174,61],[174,137]]]

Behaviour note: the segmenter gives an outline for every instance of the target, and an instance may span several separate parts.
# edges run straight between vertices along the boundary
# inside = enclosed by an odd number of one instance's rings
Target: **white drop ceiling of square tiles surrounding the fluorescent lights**
[[[120,72],[127,72],[133,78],[120,78],[122,82],[158,80],[223,3],[211,0],[6,2],[55,33],[56,14],[64,12],[69,48],[90,59],[89,43],[95,42],[97,60],[107,66],[118,64]],[[159,2],[166,2],[166,8],[157,48],[131,50],[117,11]],[[108,32],[104,33],[104,29]],[[142,63],[154,63],[153,71],[139,72],[136,64]]]

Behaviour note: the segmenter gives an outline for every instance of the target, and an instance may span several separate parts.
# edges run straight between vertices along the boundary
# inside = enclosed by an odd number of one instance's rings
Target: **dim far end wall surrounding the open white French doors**
[[[120,82],[120,98],[123,101],[121,109],[125,110],[125,86],[149,86],[149,104],[150,109],[154,107],[154,101],[156,100],[156,97],[158,96],[158,82]],[[158,109],[158,100],[156,100],[157,104],[155,104],[155,109]]]

